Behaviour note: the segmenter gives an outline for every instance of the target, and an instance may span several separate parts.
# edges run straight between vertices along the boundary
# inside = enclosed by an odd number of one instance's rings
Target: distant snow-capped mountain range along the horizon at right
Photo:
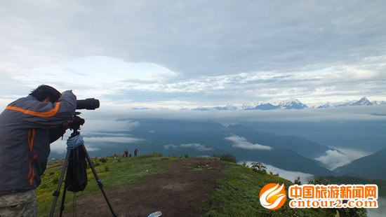
[[[318,106],[307,106],[298,99],[290,99],[285,101],[272,101],[272,102],[253,102],[245,103],[241,105],[227,104],[226,106],[216,106],[212,108],[199,108],[194,110],[208,111],[211,109],[229,111],[229,110],[274,110],[274,109],[328,109],[340,106],[373,106],[373,105],[386,105],[385,101],[373,101],[370,102],[366,97],[362,97],[358,101],[340,102],[340,103],[321,103]]]

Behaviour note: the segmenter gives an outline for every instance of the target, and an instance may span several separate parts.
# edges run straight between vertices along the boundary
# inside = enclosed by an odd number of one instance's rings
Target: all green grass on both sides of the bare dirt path
[[[144,185],[157,185],[154,182],[149,183],[149,180],[154,181],[154,177],[161,176],[166,171],[170,171],[170,168],[172,166],[174,168],[175,164],[181,167],[189,167],[188,172],[196,173],[197,177],[199,177],[200,172],[206,172],[206,176],[212,172],[220,172],[222,176],[219,176],[218,179],[216,178],[214,181],[208,179],[213,182],[211,189],[207,190],[206,195],[204,195],[205,198],[200,201],[199,209],[195,209],[195,212],[189,216],[335,216],[337,214],[336,209],[291,209],[288,205],[290,201],[288,197],[283,207],[277,210],[265,209],[261,206],[259,199],[260,190],[263,186],[267,183],[284,183],[288,195],[288,187],[293,185],[293,183],[272,174],[253,172],[251,168],[243,165],[205,158],[206,162],[218,161],[216,164],[221,165],[221,167],[218,167],[220,169],[218,169],[208,167],[208,165],[195,165],[194,162],[197,162],[197,158],[194,159],[164,157],[159,153],[152,153],[135,158],[99,158],[98,160],[93,160],[93,162],[107,193],[122,189],[131,190]],[[36,189],[39,200],[39,216],[48,216],[51,211],[52,193],[58,185],[61,169],[62,160],[50,162],[42,178],[41,186]],[[186,176],[181,171],[175,172],[175,174],[168,174],[168,176],[174,175],[180,179]],[[183,185],[181,186],[183,187]],[[200,186],[196,187],[200,188]],[[168,186],[167,188],[172,187]],[[86,186],[84,191],[76,193],[76,201],[95,195],[98,191],[100,192],[100,189],[95,182],[91,169],[88,169],[88,186]],[[180,194],[187,195],[189,193],[191,192],[180,192]],[[76,209],[72,207],[72,202],[74,201],[72,195],[73,193],[67,193],[66,196],[65,204],[67,206],[65,207],[65,212],[67,213],[71,213]],[[61,197],[62,190],[56,205],[56,213],[58,213],[60,207]],[[98,197],[102,197],[102,195]],[[164,198],[162,201],[168,202],[168,198]],[[181,202],[181,204],[183,203]],[[55,214],[55,216],[58,216],[58,214]]]

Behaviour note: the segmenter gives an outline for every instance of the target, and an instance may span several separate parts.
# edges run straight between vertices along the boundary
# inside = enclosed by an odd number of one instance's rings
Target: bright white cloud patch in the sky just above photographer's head
[[[105,98],[133,90],[159,91],[167,80],[175,76],[178,73],[154,63],[88,56],[13,72],[8,80],[31,89],[41,83],[55,84],[53,86],[58,90],[74,90],[79,98]]]

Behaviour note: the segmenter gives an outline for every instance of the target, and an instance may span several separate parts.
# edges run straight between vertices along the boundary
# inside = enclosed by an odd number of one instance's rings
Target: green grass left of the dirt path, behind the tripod
[[[164,172],[168,167],[168,162],[175,158],[164,158],[159,153],[149,155],[140,155],[132,158],[116,158],[106,157],[93,160],[95,171],[103,183],[105,190],[120,188],[121,186],[135,186],[147,176]],[[60,172],[64,160],[50,162],[47,165],[46,172],[41,179],[41,185],[36,189],[36,195],[39,200],[39,216],[49,216],[53,204],[53,192],[58,187]],[[76,193],[76,197],[80,198],[83,195],[100,192],[100,188],[95,181],[95,177],[91,169],[87,169],[88,185],[84,191]],[[64,184],[60,190],[56,211],[60,208],[62,200]],[[102,197],[102,194],[100,195]],[[72,202],[73,193],[67,192],[65,202]],[[66,212],[72,211],[72,207],[65,207]]]

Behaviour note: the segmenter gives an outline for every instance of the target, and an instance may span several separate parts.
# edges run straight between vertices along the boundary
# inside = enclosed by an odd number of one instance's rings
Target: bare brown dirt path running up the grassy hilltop
[[[162,216],[200,216],[215,181],[225,176],[223,167],[222,162],[206,158],[175,160],[166,172],[151,176],[136,187],[109,190],[107,197],[119,217],[143,217],[154,211],[162,211]],[[112,216],[112,213],[99,191],[76,200],[76,216]]]

